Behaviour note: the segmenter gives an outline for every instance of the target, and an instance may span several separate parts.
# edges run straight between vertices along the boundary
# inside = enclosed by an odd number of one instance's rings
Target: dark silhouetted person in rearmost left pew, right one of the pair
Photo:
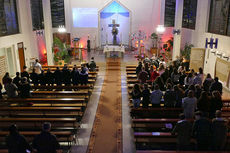
[[[43,124],[42,132],[34,138],[32,146],[37,153],[56,153],[60,151],[60,144],[56,136],[51,134],[50,131],[51,124],[46,122]]]

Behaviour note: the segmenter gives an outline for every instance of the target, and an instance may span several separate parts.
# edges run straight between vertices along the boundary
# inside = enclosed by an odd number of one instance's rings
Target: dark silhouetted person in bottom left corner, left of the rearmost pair
[[[25,137],[19,134],[15,124],[9,127],[9,135],[6,137],[6,146],[9,153],[27,153],[27,150],[32,151]]]

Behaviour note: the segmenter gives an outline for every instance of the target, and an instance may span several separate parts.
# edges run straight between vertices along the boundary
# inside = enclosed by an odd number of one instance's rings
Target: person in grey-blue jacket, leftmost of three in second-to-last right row
[[[193,118],[194,112],[197,105],[197,99],[194,97],[194,92],[190,90],[188,92],[188,97],[182,99],[182,107],[184,108],[185,118]]]

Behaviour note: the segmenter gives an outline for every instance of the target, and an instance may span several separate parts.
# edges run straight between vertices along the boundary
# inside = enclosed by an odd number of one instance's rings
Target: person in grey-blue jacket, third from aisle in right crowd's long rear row
[[[153,87],[153,91],[150,95],[150,101],[152,103],[152,107],[160,107],[162,97],[163,97],[163,93],[160,90],[159,85],[156,84]]]

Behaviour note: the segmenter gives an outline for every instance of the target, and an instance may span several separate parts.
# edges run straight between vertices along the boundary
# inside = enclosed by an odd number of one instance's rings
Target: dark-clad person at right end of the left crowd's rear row
[[[31,89],[31,86],[28,83],[27,78],[26,77],[22,78],[22,83],[21,83],[21,86],[19,88],[20,97],[21,98],[29,98],[29,97],[31,97],[30,89]]]

